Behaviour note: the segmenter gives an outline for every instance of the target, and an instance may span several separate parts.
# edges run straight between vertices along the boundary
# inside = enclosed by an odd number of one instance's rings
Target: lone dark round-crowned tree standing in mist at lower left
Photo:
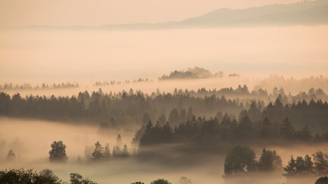
[[[49,160],[52,163],[66,163],[68,157],[66,156],[66,145],[63,141],[54,141],[51,144],[51,150],[49,151]]]

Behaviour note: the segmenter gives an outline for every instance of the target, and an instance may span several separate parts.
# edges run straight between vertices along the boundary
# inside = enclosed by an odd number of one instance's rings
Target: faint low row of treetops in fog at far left
[[[12,83],[9,84],[4,84],[4,86],[0,85],[0,90],[21,90],[21,89],[58,89],[58,88],[71,88],[71,87],[78,87],[78,83],[61,83],[61,84],[55,84],[53,83],[52,85],[48,85],[47,83],[43,83],[42,85],[36,85],[36,86],[31,86],[31,84],[27,83],[27,84],[16,84],[13,85]]]

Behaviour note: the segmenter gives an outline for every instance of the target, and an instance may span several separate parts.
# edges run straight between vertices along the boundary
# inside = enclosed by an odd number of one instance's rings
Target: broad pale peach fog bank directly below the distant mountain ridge
[[[327,32],[327,26],[0,29],[0,82],[157,79],[194,66],[247,77],[325,75]]]

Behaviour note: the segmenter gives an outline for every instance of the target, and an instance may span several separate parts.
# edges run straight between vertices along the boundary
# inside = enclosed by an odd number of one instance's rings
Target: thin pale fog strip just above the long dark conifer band
[[[319,76],[314,76],[314,78],[319,77]],[[259,88],[266,89],[268,91],[268,94],[272,93],[273,88],[277,87],[280,89],[282,87],[286,93],[286,95],[291,92],[292,95],[297,95],[300,93],[300,91],[305,91],[305,93],[308,93],[310,88],[318,89],[321,88],[323,89],[324,93],[328,93],[328,79],[326,78],[327,76],[323,76],[322,79],[313,79],[309,80],[310,76],[304,76],[304,78],[308,78],[307,80],[303,80],[302,78],[297,78],[290,80],[290,78],[285,78],[281,76],[276,76],[276,77],[267,77],[263,79],[259,78],[248,78],[248,77],[225,77],[225,78],[211,78],[211,79],[192,79],[192,80],[167,80],[167,81],[152,81],[152,82],[132,82],[130,83],[125,83],[125,81],[120,81],[122,82],[121,84],[114,84],[114,85],[99,85],[95,86],[95,82],[105,82],[104,81],[93,81],[89,83],[79,83],[79,87],[72,87],[72,88],[50,88],[50,89],[13,89],[13,90],[8,90],[8,89],[3,89],[1,91],[5,91],[8,93],[10,96],[19,93],[23,98],[25,96],[29,95],[39,95],[39,96],[69,96],[71,97],[72,95],[78,95],[80,91],[85,91],[87,90],[89,94],[92,93],[92,91],[98,91],[99,88],[101,88],[104,93],[119,93],[122,90],[129,91],[131,88],[136,91],[136,90],[141,90],[142,93],[144,94],[151,94],[152,92],[156,93],[156,90],[159,89],[160,92],[170,92],[172,93],[175,88],[177,89],[182,89],[183,91],[185,89],[188,90],[194,90],[197,91],[200,88],[206,88],[207,90],[209,89],[214,89],[216,88],[221,89],[221,88],[230,88],[232,87],[233,89],[236,89],[238,85],[243,86],[246,84],[249,88],[249,91],[251,93],[252,90],[258,90]],[[65,83],[67,81],[60,81],[56,82],[56,84],[60,83]],[[106,81],[110,82],[110,81]],[[116,81],[117,82],[117,81]],[[53,83],[46,82],[50,87],[52,86]],[[0,84],[0,85],[4,85]],[[13,83],[13,86],[16,85]],[[18,83],[17,85],[22,85],[22,83]],[[34,85],[31,84],[32,87],[35,87],[36,85],[41,86],[42,83],[36,83]],[[235,97],[237,98],[237,97]],[[240,98],[240,97],[239,97]]]

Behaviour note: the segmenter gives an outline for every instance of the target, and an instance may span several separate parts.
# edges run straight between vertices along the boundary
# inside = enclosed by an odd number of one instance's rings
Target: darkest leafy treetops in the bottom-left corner
[[[44,169],[37,173],[32,169],[11,169],[0,171],[0,183],[15,183],[15,184],[97,184],[88,178],[84,178],[80,174],[71,173],[70,182],[63,182],[50,169]]]

